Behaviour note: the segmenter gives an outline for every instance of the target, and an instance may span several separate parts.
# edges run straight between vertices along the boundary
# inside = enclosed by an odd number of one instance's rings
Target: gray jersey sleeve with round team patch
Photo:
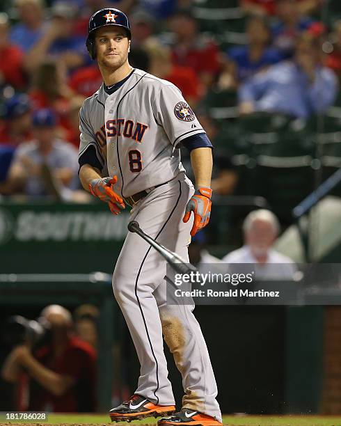
[[[166,132],[170,143],[178,145],[182,139],[205,133],[180,90],[173,84],[162,84],[159,96],[152,102],[154,118]]]

